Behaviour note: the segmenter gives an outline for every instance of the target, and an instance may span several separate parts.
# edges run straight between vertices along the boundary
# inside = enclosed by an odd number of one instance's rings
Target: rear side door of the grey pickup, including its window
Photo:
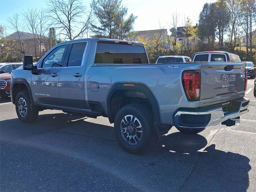
[[[78,42],[70,44],[68,48],[59,79],[61,106],[77,109],[87,108],[84,91],[87,46],[88,42]]]

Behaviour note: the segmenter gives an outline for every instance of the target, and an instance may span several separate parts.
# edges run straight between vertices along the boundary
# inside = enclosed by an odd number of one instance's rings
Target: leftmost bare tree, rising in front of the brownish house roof
[[[26,54],[28,49],[25,48],[24,44],[24,33],[22,32],[24,28],[19,20],[20,14],[15,13],[12,17],[8,17],[7,21],[10,24],[10,28],[16,31],[18,38],[14,40],[14,49],[18,50],[22,54]]]

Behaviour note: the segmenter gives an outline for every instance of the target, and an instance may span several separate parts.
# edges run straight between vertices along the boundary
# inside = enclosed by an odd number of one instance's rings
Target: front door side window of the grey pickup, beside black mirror
[[[64,60],[64,52],[67,45],[56,47],[43,61],[42,68],[61,67]]]

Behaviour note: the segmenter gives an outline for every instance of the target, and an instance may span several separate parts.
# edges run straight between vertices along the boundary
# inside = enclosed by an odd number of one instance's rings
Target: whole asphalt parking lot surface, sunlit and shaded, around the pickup
[[[253,82],[240,124],[197,135],[173,127],[143,155],[120,148],[107,118],[45,110],[24,124],[0,99],[0,190],[256,191]]]

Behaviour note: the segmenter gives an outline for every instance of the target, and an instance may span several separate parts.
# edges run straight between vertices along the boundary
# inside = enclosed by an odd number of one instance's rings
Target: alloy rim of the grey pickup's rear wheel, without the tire
[[[120,124],[122,138],[130,145],[136,145],[142,139],[142,125],[138,118],[126,115]]]

